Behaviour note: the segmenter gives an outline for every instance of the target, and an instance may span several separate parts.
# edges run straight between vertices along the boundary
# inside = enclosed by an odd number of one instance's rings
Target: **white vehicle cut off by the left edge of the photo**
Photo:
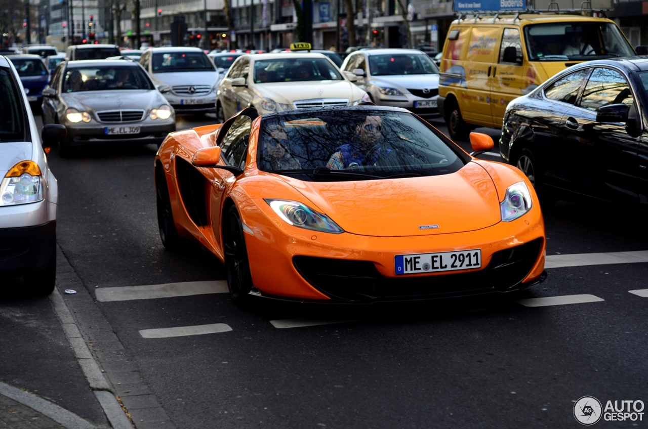
[[[5,56],[0,100],[0,278],[23,277],[26,292],[49,294],[56,277],[58,187],[43,143],[63,139],[65,126],[43,126],[41,143],[23,85]]]

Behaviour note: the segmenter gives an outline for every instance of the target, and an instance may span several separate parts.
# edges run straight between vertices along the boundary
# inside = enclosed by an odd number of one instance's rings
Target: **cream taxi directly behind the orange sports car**
[[[323,54],[246,54],[218,85],[216,119],[224,122],[248,106],[263,115],[363,101],[369,101],[367,93]]]

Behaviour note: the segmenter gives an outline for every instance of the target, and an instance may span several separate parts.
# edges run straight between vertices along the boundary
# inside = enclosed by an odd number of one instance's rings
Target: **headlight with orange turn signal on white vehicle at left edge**
[[[17,163],[0,183],[0,206],[35,203],[41,200],[41,170],[34,161]]]

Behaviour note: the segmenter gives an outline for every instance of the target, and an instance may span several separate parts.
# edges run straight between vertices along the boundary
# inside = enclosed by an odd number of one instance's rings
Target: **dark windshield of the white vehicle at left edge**
[[[25,141],[25,116],[21,114],[18,97],[11,69],[0,67],[0,143]]]

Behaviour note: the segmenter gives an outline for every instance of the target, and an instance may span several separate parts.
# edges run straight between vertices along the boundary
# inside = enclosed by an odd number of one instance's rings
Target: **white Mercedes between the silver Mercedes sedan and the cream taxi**
[[[139,58],[157,89],[176,113],[214,111],[218,71],[200,48],[159,47],[146,49]]]

